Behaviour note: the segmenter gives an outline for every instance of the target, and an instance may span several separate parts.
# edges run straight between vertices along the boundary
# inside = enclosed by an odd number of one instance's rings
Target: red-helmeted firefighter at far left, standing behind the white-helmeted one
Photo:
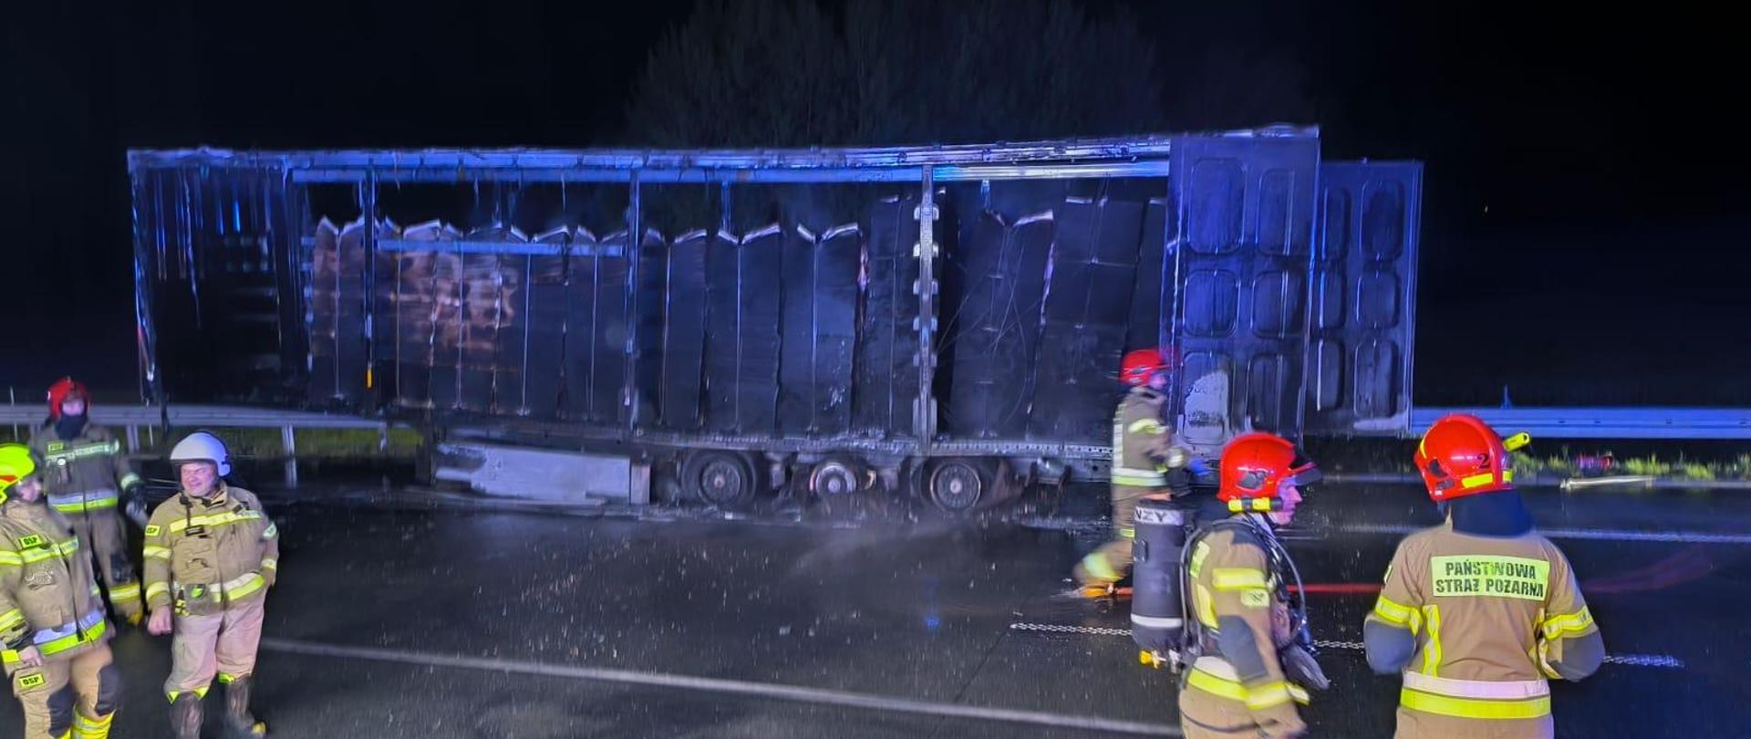
[[[128,468],[116,436],[89,422],[89,398],[86,385],[70,377],[49,385],[49,420],[32,434],[30,448],[46,462],[49,506],[74,524],[88,557],[96,557],[116,616],[138,625],[140,578],[117,504],[144,506],[140,476]]]

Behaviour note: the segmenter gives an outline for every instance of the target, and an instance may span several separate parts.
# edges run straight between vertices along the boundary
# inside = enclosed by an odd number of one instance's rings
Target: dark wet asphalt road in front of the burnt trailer
[[[1173,681],[1136,665],[1124,608],[1056,597],[1098,527],[623,520],[312,496],[268,490],[284,567],[257,706],[277,735],[1177,732]],[[1751,735],[1739,613],[1751,497],[1529,499],[1618,655],[1555,686],[1558,734]],[[1345,643],[1361,639],[1392,529],[1432,517],[1415,489],[1329,489],[1290,532],[1336,683],[1306,709],[1315,735],[1390,735],[1397,679]],[[1662,538],[1635,538],[1648,532]],[[130,690],[116,735],[168,735],[168,639],[128,632],[116,650]],[[5,702],[0,727],[18,721]]]

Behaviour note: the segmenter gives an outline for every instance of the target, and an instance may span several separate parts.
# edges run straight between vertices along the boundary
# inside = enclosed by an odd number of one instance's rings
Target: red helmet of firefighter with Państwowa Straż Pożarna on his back
[[[1422,473],[1434,501],[1511,490],[1515,471],[1508,469],[1511,462],[1508,452],[1525,447],[1530,440],[1527,434],[1515,434],[1502,441],[1483,419],[1466,413],[1445,415],[1417,445],[1417,471]]]

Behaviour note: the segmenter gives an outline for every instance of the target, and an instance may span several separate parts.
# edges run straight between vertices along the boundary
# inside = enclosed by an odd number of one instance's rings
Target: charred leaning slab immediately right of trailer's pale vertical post
[[[967,438],[1021,438],[1038,361],[1052,214],[1009,222],[984,212],[972,238],[949,256],[961,299],[944,327],[953,354],[944,429]]]

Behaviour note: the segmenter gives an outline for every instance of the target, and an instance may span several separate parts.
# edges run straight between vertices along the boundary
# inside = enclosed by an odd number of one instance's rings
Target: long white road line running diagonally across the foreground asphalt
[[[646,685],[655,688],[681,688],[709,693],[746,695],[772,700],[795,700],[818,706],[844,706],[868,711],[912,713],[923,716],[970,718],[981,721],[1028,723],[1035,727],[1080,728],[1112,734],[1150,737],[1184,735],[1178,727],[1147,721],[1119,721],[1101,716],[1075,716],[1044,711],[1016,711],[1003,707],[961,706],[930,700],[911,700],[890,695],[853,693],[846,690],[804,688],[797,685],[756,683],[746,679],[697,678],[690,674],[636,672],[625,669],[576,667],[545,662],[497,660],[487,657],[434,655],[424,651],[382,650],[371,646],[338,646],[294,639],[261,639],[261,648],[305,657],[338,657],[369,662],[394,662],[422,667],[455,667],[483,672],[534,674],[543,678],[571,678],[601,683]]]

